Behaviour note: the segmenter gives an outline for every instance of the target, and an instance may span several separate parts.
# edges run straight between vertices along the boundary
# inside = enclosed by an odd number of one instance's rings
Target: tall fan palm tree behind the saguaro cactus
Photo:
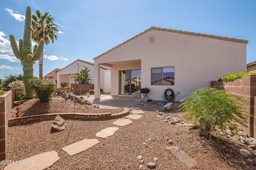
[[[44,39],[44,44],[48,45],[50,41],[54,42],[54,39],[57,40],[58,33],[58,25],[54,23],[54,18],[49,14],[49,12],[45,12],[44,15],[36,10],[36,15],[32,15],[32,39],[39,43],[40,39]],[[43,78],[43,53],[38,61],[39,64],[39,78]]]

